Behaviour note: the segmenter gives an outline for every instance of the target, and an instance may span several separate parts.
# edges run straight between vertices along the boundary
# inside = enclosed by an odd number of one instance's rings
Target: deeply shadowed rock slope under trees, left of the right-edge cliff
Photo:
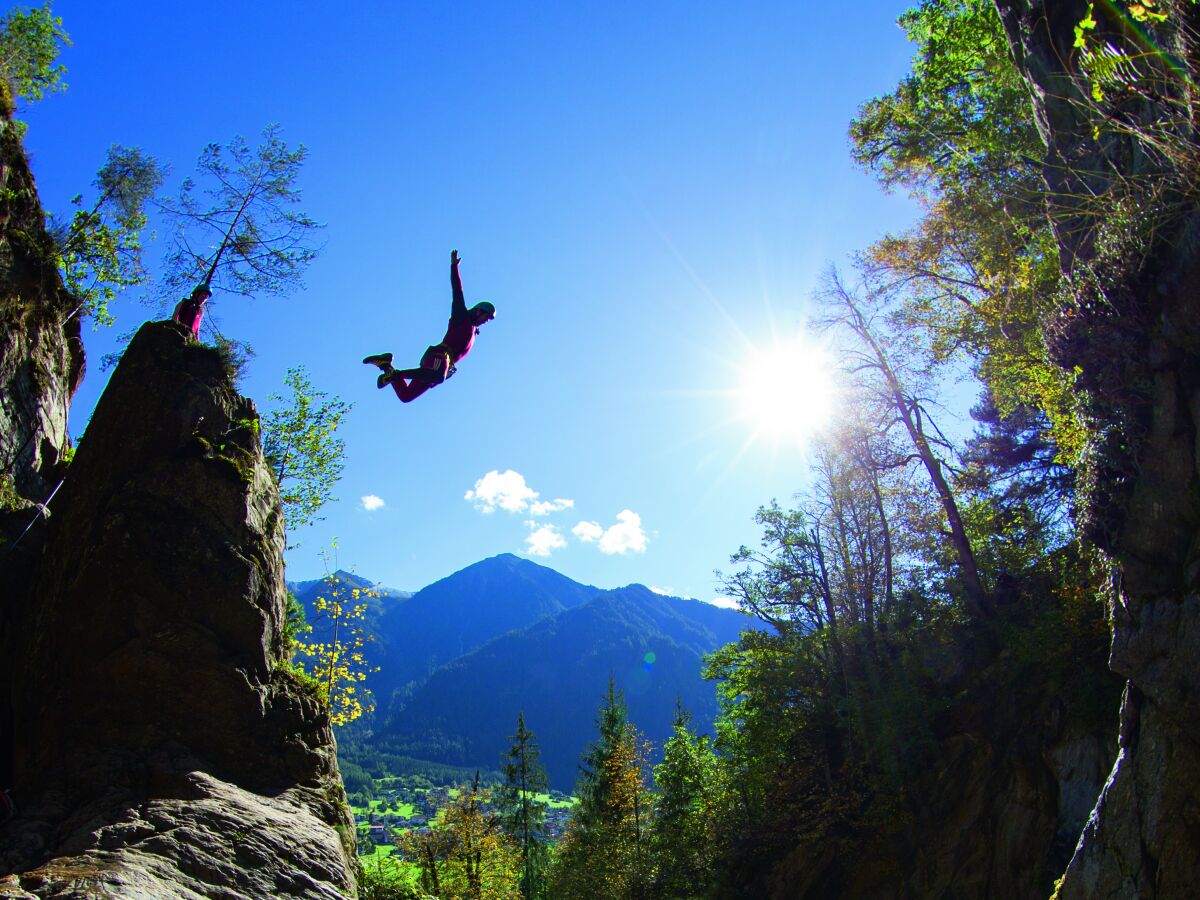
[[[1036,670],[1016,677],[1021,670],[1007,653],[983,672],[971,650],[958,655],[937,672],[938,683],[950,686],[932,724],[936,749],[924,772],[890,802],[875,800],[884,811],[870,827],[829,828],[802,840],[744,896],[1034,900],[1050,894],[1116,748],[1070,709],[1063,683]],[[1098,652],[1094,668],[1080,674],[1108,680],[1104,692],[1115,702],[1116,679],[1102,667]],[[950,676],[954,668],[966,674],[962,682]]]

